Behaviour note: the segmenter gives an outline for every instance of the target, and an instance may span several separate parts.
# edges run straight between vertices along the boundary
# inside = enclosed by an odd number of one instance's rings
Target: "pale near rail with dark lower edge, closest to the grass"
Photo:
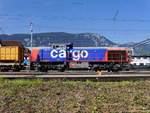
[[[62,79],[62,80],[93,80],[93,81],[125,81],[150,80],[150,74],[124,75],[0,75],[5,79]]]

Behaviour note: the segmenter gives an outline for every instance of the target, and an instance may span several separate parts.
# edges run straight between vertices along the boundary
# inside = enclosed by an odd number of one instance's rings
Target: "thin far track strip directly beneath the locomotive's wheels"
[[[49,72],[35,72],[35,71],[21,71],[21,72],[0,72],[0,75],[97,75],[95,71],[49,71]],[[125,75],[125,74],[150,74],[150,71],[121,71],[121,72],[107,72],[102,71],[102,75]]]

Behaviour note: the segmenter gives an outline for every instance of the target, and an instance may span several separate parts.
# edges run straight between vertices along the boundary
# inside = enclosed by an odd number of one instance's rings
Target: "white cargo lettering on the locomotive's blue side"
[[[69,51],[69,54],[71,54],[71,58],[73,60],[80,60],[81,58],[82,59],[85,59],[85,58],[88,58],[88,51],[86,50],[71,50]],[[66,58],[66,50],[55,50],[53,49],[51,52],[50,52],[50,56],[52,58]]]

